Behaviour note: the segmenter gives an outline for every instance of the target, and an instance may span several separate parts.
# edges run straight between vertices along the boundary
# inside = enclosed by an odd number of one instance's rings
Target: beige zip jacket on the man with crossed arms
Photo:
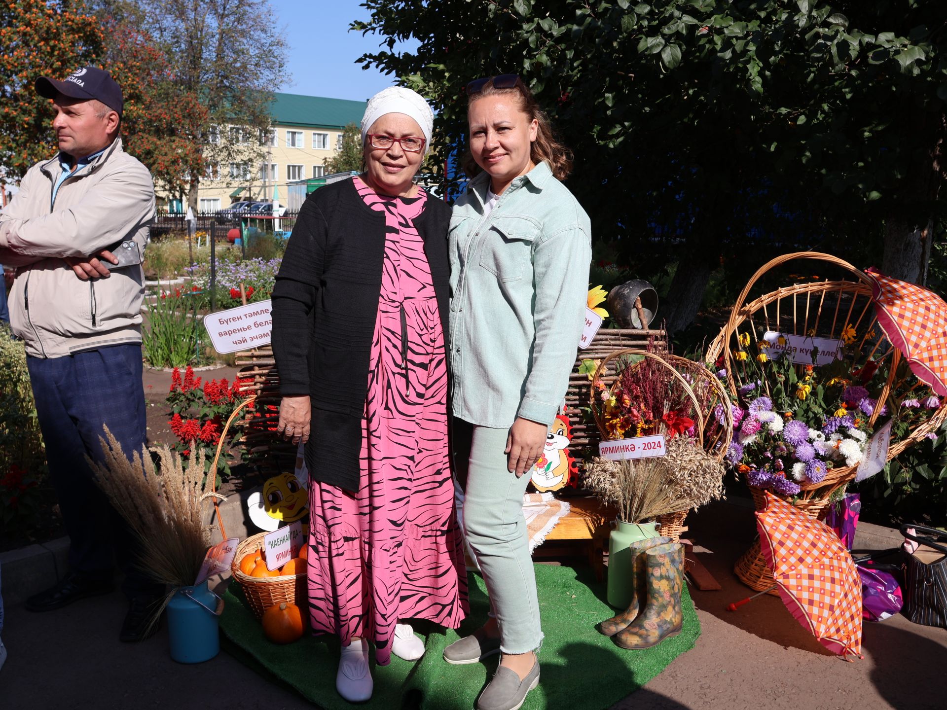
[[[13,332],[27,355],[59,358],[80,350],[141,342],[141,266],[80,280],[63,257],[88,257],[135,240],[142,254],[154,220],[152,174],[121,139],[63,181],[59,155],[27,170],[0,212],[0,263],[16,267],[10,292]]]

